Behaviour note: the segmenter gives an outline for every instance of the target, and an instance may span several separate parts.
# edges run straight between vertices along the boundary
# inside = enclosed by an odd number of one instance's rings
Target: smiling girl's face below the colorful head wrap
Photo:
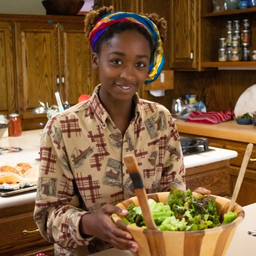
[[[128,30],[102,44],[99,54],[93,53],[93,67],[99,69],[103,103],[131,101],[143,86],[148,74],[151,49],[147,39]]]

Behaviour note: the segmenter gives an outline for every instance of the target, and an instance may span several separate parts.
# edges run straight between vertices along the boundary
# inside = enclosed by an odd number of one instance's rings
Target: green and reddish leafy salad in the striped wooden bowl
[[[148,204],[157,228],[162,231],[204,230],[221,225],[214,199],[208,195],[194,196],[190,189],[186,192],[172,189],[166,205],[153,199],[148,199]],[[123,221],[146,228],[141,207],[131,204],[127,209],[128,215]],[[235,212],[224,214],[224,224],[236,217]]]

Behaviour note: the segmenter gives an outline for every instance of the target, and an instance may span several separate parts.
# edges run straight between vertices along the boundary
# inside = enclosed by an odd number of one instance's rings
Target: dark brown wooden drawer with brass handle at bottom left
[[[2,230],[0,232],[0,255],[21,255],[28,251],[40,253],[42,247],[52,245],[42,238],[39,231],[23,233],[23,230],[37,229],[32,212],[1,219],[0,227]]]

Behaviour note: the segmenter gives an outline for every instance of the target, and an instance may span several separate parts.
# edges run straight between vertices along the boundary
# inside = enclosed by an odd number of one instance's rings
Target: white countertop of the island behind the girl
[[[24,131],[20,137],[7,137],[0,140],[0,147],[21,147],[23,150],[18,153],[0,155],[0,162],[7,163],[30,163],[38,164],[35,159],[39,157],[41,130]],[[200,154],[184,156],[185,168],[192,168],[208,163],[215,163],[221,160],[227,160],[237,157],[237,152],[222,148],[209,147],[211,151]],[[22,194],[0,196],[0,208],[6,208],[15,205],[31,203],[35,201],[36,192],[24,192]]]

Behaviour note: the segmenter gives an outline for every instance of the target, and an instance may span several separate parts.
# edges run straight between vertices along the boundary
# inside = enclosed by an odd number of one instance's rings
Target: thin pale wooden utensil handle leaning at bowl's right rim
[[[247,145],[247,148],[246,148],[245,153],[244,153],[244,158],[243,158],[243,161],[242,161],[242,165],[241,165],[239,175],[238,175],[237,180],[236,180],[235,189],[234,189],[231,201],[230,201],[230,205],[227,209],[227,212],[232,211],[233,207],[234,207],[234,204],[236,203],[236,198],[237,198],[238,192],[240,190],[240,187],[241,187],[241,184],[242,184],[242,181],[243,181],[243,178],[244,178],[244,173],[246,171],[247,164],[248,164],[248,161],[250,159],[250,155],[252,153],[252,150],[253,150],[253,144],[249,143]]]

